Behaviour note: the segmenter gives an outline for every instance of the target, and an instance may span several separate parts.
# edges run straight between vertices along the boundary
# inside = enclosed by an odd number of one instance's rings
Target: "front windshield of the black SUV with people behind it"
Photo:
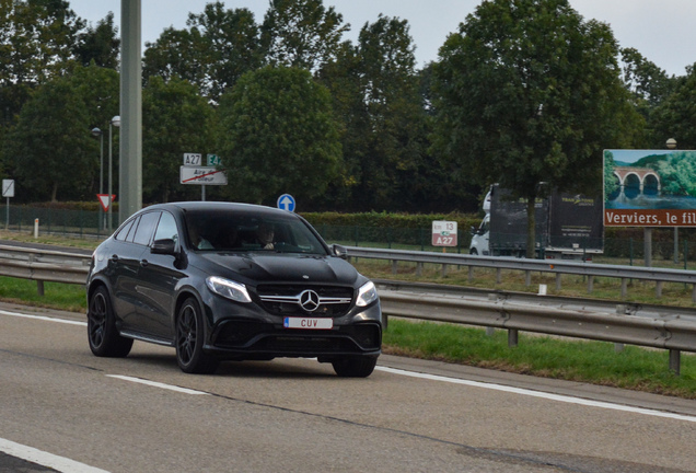
[[[292,214],[266,217],[230,209],[188,210],[186,229],[188,245],[195,250],[327,254],[304,221]]]

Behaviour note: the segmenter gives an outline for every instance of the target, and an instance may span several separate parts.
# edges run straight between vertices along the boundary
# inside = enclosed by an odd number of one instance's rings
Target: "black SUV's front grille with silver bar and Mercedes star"
[[[318,296],[318,307],[301,305],[302,293],[312,290]],[[350,309],[353,290],[341,286],[260,285],[256,288],[264,309],[276,315],[339,318]]]

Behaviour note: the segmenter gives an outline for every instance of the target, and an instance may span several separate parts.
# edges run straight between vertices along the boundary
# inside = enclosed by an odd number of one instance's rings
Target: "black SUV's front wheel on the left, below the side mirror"
[[[188,298],[176,316],[176,361],[182,371],[192,374],[210,374],[218,369],[219,361],[207,355],[202,313],[198,301]]]

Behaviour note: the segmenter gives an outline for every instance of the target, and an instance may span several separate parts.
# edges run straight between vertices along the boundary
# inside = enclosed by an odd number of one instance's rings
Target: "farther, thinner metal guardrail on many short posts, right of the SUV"
[[[420,276],[426,263],[442,265],[443,275],[448,266],[468,266],[469,280],[473,279],[474,268],[494,268],[497,272],[497,282],[501,280],[502,269],[513,269],[525,273],[525,284],[530,286],[532,273],[550,273],[556,275],[556,289],[561,288],[561,275],[585,276],[588,292],[592,292],[595,277],[618,278],[622,281],[622,298],[627,295],[630,279],[656,281],[656,297],[662,297],[663,282],[683,282],[692,285],[692,301],[696,302],[696,272],[685,269],[604,265],[566,259],[527,259],[500,256],[475,256],[464,254],[431,253],[404,250],[368,249],[349,246],[350,257],[372,259],[387,259],[392,262],[396,273],[398,262],[416,263],[416,274]]]

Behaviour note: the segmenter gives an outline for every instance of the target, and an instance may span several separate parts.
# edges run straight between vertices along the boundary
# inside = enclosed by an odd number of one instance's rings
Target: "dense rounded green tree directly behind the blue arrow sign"
[[[231,198],[275,203],[283,192],[312,198],[338,175],[330,96],[309,71],[267,66],[247,72],[222,96],[219,114]]]

